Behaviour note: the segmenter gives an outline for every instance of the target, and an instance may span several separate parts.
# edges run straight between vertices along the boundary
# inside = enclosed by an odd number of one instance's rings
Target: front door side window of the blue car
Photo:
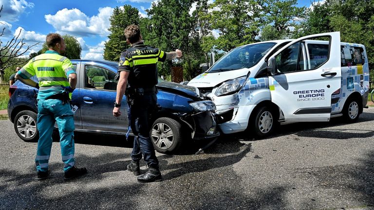
[[[84,88],[116,90],[117,81],[114,80],[115,73],[111,70],[98,66],[85,65]]]

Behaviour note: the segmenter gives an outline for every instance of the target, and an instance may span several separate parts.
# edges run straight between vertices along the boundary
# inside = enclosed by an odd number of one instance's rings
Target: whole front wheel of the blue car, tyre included
[[[153,123],[150,137],[157,152],[175,153],[182,145],[181,132],[181,123],[171,118],[162,117]]]

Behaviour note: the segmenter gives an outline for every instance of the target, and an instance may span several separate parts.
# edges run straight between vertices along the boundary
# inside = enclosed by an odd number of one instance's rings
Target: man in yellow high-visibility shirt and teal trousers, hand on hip
[[[65,41],[59,34],[46,36],[49,48],[44,54],[30,60],[16,78],[26,85],[39,88],[37,94],[37,179],[48,177],[48,161],[52,147],[52,132],[55,122],[60,133],[61,155],[64,178],[72,179],[87,173],[86,168],[75,167],[74,117],[70,106],[71,92],[76,86],[76,72],[72,62],[61,54],[65,53]],[[37,75],[39,83],[30,78]]]

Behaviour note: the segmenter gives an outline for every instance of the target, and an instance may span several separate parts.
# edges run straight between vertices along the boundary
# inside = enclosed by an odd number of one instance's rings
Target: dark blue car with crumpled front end
[[[113,103],[118,63],[72,60],[78,82],[72,96],[75,132],[123,135],[128,132],[128,106],[122,100],[122,115],[114,117]],[[34,76],[32,78],[37,81]],[[220,135],[215,105],[205,101],[194,87],[159,78],[157,111],[152,114],[150,137],[160,153],[175,153],[191,140],[214,140]],[[20,139],[37,141],[37,89],[17,81],[9,88],[8,115]],[[222,120],[222,117],[221,117]],[[131,134],[131,131],[130,131]],[[125,138],[125,137],[124,137]]]

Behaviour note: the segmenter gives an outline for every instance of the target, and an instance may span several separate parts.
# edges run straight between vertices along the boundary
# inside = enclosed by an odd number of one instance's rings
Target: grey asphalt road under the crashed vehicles
[[[123,139],[81,134],[75,157],[89,174],[64,181],[54,142],[51,177],[37,181],[37,143],[0,121],[0,209],[373,209],[373,120],[370,107],[353,124],[288,124],[264,140],[222,136],[201,155],[193,155],[198,146],[157,154],[164,180],[148,184],[126,170],[131,148]]]

